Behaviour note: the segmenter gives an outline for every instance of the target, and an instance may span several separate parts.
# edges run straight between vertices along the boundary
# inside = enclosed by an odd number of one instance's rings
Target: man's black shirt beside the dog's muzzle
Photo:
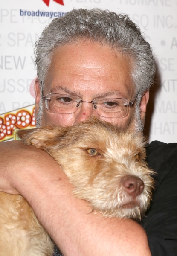
[[[151,142],[148,166],[157,175],[151,207],[142,220],[152,256],[177,256],[177,143]],[[55,256],[61,256],[55,248]]]

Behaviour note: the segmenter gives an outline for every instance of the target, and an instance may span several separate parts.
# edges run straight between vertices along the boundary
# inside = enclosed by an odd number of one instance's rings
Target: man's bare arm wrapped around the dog
[[[91,212],[46,152],[20,141],[0,143],[0,163],[1,191],[26,198],[65,256],[151,255],[139,224]]]

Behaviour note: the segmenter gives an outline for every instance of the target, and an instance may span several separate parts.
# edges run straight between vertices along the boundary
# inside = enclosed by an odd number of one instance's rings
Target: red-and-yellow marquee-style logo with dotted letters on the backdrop
[[[35,105],[0,115],[0,142],[14,138],[17,129],[35,128]]]

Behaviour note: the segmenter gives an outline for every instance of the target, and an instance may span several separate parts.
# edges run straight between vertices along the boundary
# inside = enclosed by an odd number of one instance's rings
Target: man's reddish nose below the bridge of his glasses
[[[75,123],[86,121],[94,113],[95,111],[93,110],[93,103],[81,102],[81,107],[75,112]]]

